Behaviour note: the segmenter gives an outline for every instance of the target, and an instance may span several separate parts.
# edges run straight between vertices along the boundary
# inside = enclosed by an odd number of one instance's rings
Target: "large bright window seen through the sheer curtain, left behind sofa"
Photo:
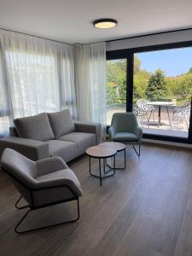
[[[54,55],[6,51],[14,117],[59,109]]]

